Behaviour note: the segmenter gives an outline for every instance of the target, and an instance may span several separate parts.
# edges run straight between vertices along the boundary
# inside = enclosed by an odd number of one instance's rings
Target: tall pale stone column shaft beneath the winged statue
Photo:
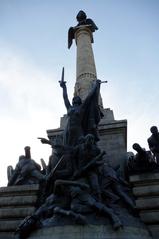
[[[93,34],[89,26],[79,26],[75,31],[77,45],[76,57],[76,84],[74,95],[79,95],[82,100],[90,92],[93,81],[97,79],[94,54],[92,49]],[[102,105],[100,97],[99,104]]]

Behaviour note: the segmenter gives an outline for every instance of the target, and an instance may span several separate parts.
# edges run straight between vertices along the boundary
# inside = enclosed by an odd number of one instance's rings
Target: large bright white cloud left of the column
[[[6,168],[18,161],[30,145],[35,160],[48,160],[51,149],[38,136],[57,128],[64,106],[57,76],[43,72],[9,47],[0,46],[0,184],[6,185]],[[56,90],[59,89],[59,90]]]

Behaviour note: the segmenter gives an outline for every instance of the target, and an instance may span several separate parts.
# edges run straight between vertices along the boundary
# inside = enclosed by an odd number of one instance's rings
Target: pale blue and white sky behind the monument
[[[67,32],[84,10],[99,30],[93,51],[98,78],[107,80],[104,108],[128,121],[128,151],[148,149],[150,127],[159,126],[158,0],[0,0],[0,186],[24,147],[48,162],[51,148],[37,137],[58,128],[66,113],[58,81],[62,67],[71,99],[76,46]]]

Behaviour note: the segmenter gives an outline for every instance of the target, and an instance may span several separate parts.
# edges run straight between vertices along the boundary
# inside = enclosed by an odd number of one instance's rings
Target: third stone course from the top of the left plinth
[[[25,218],[35,211],[35,207],[0,208],[2,218]]]

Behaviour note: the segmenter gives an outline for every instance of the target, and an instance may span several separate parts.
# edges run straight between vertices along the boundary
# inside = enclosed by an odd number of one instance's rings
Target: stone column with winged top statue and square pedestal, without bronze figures
[[[74,96],[78,95],[84,100],[97,79],[92,43],[94,42],[93,32],[98,28],[92,19],[86,17],[83,11],[80,11],[76,18],[78,24],[75,27],[70,27],[68,31],[68,48],[71,47],[72,41],[75,39],[77,54]],[[103,108],[100,94],[98,103],[103,114],[98,125],[100,135],[98,145],[107,152],[107,160],[112,166],[122,165],[127,151],[127,121],[115,120],[113,111],[109,108]],[[60,128],[47,130],[50,139],[53,140],[62,133],[67,121],[66,118],[66,116],[61,118]]]

